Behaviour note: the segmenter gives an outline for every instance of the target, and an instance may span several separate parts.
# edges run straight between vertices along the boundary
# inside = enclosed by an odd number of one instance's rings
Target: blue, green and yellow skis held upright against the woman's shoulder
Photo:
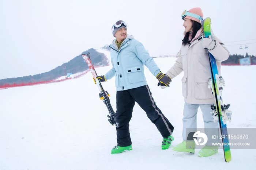
[[[206,18],[204,21],[200,21],[203,30],[204,35],[206,38],[208,38],[211,35],[211,19]],[[210,60],[210,67],[211,67],[211,83],[209,82],[209,85],[212,88],[212,92],[214,93],[215,97],[215,105],[211,106],[212,109],[212,117],[214,118],[214,121],[219,122],[219,128],[221,132],[221,136],[228,137],[227,135],[227,120],[231,121],[231,114],[232,112],[227,110],[229,108],[228,105],[223,105],[222,101],[222,86],[225,86],[225,81],[222,77],[219,77],[218,75],[218,69],[216,65],[216,59],[214,56],[208,51],[208,57]],[[223,143],[223,149],[224,149],[224,157],[225,161],[229,162],[231,161],[231,152],[229,147],[229,139],[228,138],[222,138]]]

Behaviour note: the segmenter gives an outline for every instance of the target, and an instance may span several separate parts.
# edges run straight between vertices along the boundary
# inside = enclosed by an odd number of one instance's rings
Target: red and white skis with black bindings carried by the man
[[[103,89],[103,87],[101,85],[101,81],[99,81],[96,78],[97,73],[94,69],[93,63],[91,62],[90,53],[88,53],[87,55],[82,54],[82,57],[83,57],[84,61],[87,63],[87,65],[89,66],[91,73],[93,74],[93,78],[94,78],[94,80],[98,86],[99,92],[100,92],[99,98],[100,98],[100,100],[103,101],[103,103],[108,108],[109,115],[107,117],[109,118],[109,123],[112,124],[112,126],[113,126],[116,123],[116,119],[115,119],[115,112],[110,104],[109,93]]]

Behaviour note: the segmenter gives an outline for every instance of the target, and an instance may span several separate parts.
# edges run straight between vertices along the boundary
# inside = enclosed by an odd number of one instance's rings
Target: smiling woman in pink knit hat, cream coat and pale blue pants
[[[183,142],[173,147],[174,151],[195,153],[193,134],[197,128],[197,109],[203,113],[204,128],[207,136],[218,133],[218,124],[211,116],[211,105],[215,103],[208,81],[211,78],[208,51],[217,61],[218,73],[221,76],[221,61],[229,57],[229,51],[211,31],[211,38],[204,38],[200,20],[203,19],[201,8],[192,8],[182,13],[185,36],[178,53],[176,63],[166,73],[171,79],[182,71],[182,95],[185,98],[183,111]],[[186,130],[187,129],[187,130]],[[211,132],[212,131],[212,132]],[[190,133],[191,132],[191,133]],[[206,146],[199,151],[199,157],[207,157],[218,152],[218,147],[212,146],[217,140],[209,139]],[[187,148],[186,148],[187,146]]]

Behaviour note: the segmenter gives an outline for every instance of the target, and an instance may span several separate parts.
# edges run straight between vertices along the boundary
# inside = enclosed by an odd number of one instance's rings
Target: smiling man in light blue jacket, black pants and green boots
[[[132,35],[127,34],[126,26],[127,24],[122,20],[112,26],[112,34],[116,37],[109,45],[113,67],[104,76],[97,77],[100,81],[107,81],[114,76],[116,77],[117,146],[111,150],[111,154],[132,150],[129,121],[135,102],[147,113],[148,118],[158,128],[163,136],[162,149],[165,150],[169,148],[174,139],[172,136],[174,128],[151,96],[143,65],[148,67],[161,85],[169,87],[171,79],[160,71],[142,43],[135,40]]]

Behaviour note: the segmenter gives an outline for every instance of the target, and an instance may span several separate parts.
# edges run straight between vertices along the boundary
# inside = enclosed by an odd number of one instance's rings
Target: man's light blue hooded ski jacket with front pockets
[[[109,45],[112,69],[106,74],[106,80],[116,77],[116,89],[128,90],[147,85],[144,75],[144,65],[150,72],[157,76],[160,69],[148,54],[142,43],[128,35],[121,44],[120,50],[116,45],[116,39]]]

